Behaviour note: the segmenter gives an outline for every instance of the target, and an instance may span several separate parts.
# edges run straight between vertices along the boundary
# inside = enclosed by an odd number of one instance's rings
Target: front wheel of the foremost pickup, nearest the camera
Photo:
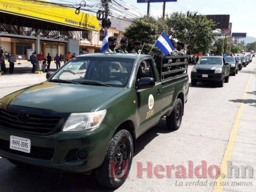
[[[109,188],[120,187],[129,174],[133,153],[134,144],[130,132],[117,132],[110,141],[104,162],[95,170],[98,183]]]

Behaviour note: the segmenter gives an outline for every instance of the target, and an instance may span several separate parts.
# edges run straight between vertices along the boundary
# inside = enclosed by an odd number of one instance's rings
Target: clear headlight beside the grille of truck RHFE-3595
[[[87,113],[71,113],[65,122],[62,132],[79,132],[98,128],[106,112],[107,110],[104,109]]]

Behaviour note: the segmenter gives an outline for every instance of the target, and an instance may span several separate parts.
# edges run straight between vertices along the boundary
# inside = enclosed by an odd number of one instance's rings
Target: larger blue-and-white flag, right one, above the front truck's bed
[[[157,46],[164,53],[164,55],[168,55],[172,50],[174,50],[170,39],[164,34],[164,32],[162,32],[158,37],[155,46]]]

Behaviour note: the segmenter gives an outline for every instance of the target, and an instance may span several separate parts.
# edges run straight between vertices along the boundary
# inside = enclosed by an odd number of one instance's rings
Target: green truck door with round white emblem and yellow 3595
[[[148,128],[158,123],[161,117],[162,105],[162,85],[156,76],[156,68],[152,60],[143,60],[139,62],[136,82],[143,77],[152,77],[155,79],[155,86],[148,89],[137,89],[138,105],[138,134],[145,132]],[[135,82],[135,86],[136,86]]]

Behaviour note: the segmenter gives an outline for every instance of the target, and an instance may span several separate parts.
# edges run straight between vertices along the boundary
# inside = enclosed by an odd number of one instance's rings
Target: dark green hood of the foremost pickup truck
[[[43,108],[57,112],[87,112],[100,107],[123,88],[44,82],[0,99],[4,105]]]

